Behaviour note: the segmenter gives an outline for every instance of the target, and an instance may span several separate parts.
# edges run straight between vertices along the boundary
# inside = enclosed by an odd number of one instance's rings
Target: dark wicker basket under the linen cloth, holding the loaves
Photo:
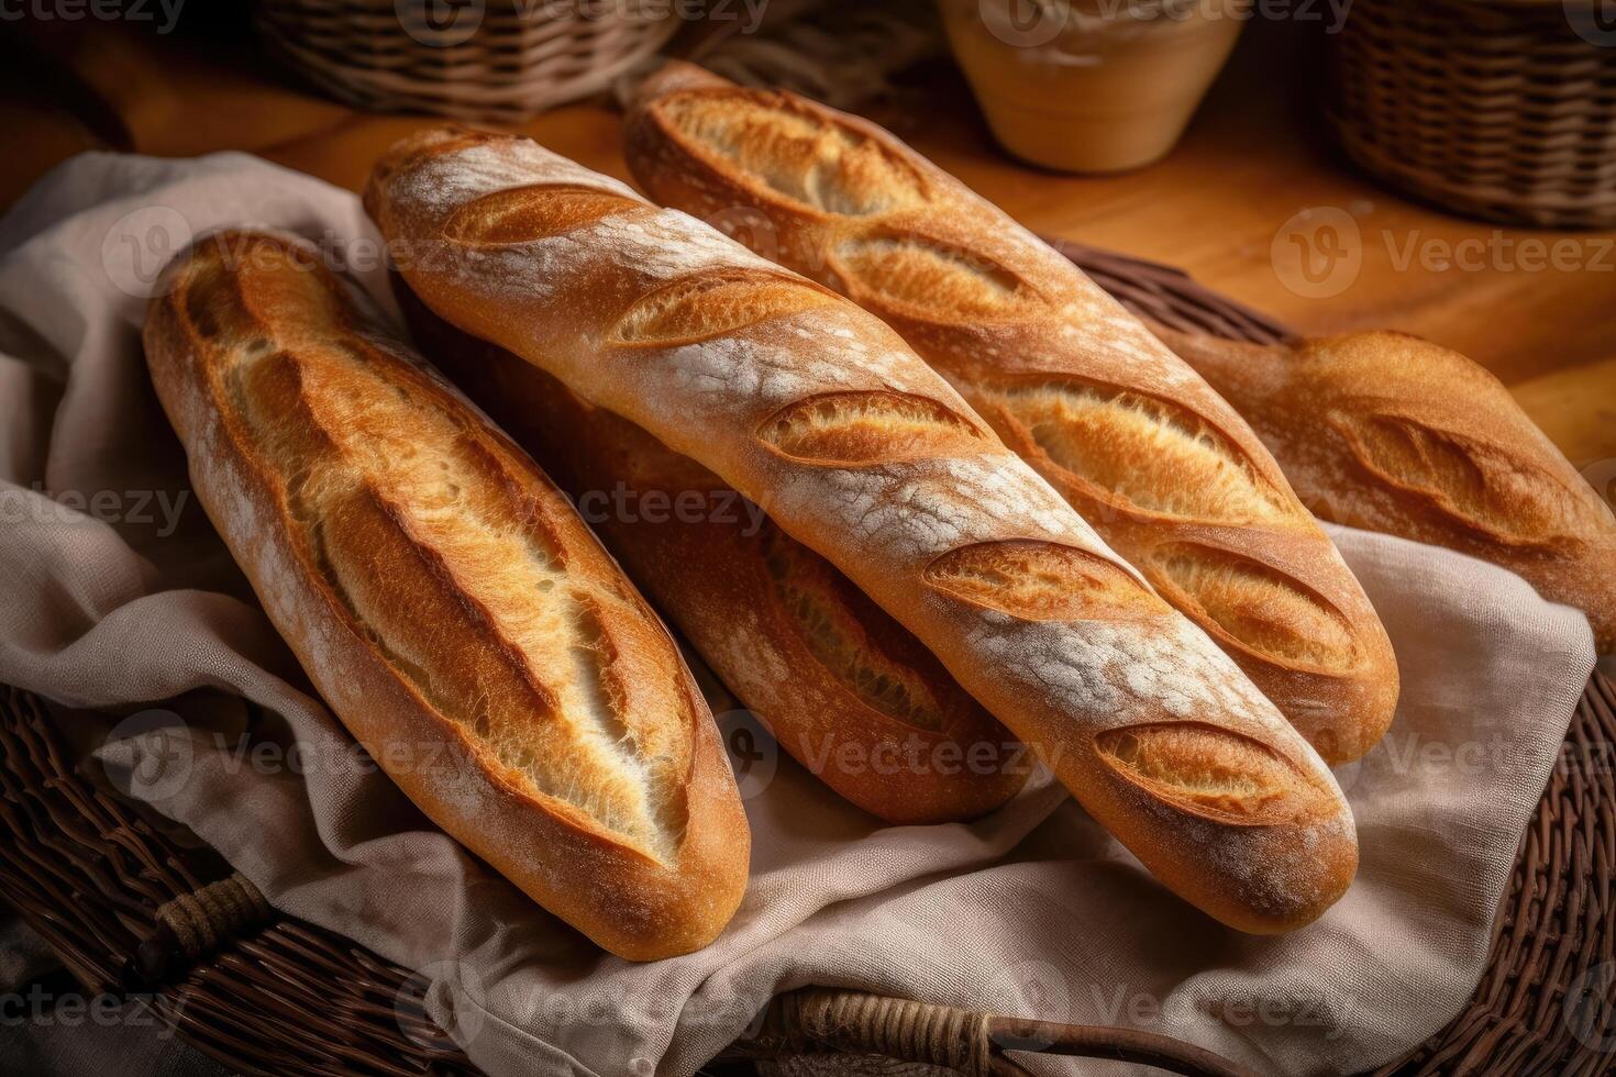
[[[1055,244],[1138,313],[1178,329],[1272,342],[1283,326],[1183,273]],[[1471,1004],[1375,1077],[1603,1074],[1616,967],[1616,686],[1595,673],[1532,815]],[[0,686],[0,899],[90,993],[128,995],[225,1066],[275,1077],[472,1077],[427,1017],[427,983],[362,946],[262,903],[194,840],[179,841],[73,765],[42,701]],[[1167,1037],[1023,1020],[805,988],[772,1001],[753,1037],[705,1072],[840,1056],[840,1072],[900,1059],[968,1077],[1025,1077],[1028,1051],[1125,1059],[1193,1077],[1238,1066]],[[789,1069],[771,1072],[790,1072]],[[816,1069],[814,1072],[826,1072]],[[915,1071],[908,1071],[915,1072]],[[932,1071],[936,1072],[936,1071]]]

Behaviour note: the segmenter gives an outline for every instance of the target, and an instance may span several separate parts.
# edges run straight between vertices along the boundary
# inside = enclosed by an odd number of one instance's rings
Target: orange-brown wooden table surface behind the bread
[[[383,147],[428,123],[317,97],[246,42],[58,23],[10,27],[3,47],[0,205],[94,147],[249,150],[357,189]],[[1456,347],[1496,373],[1574,463],[1611,471],[1616,233],[1467,221],[1353,173],[1325,142],[1311,57],[1294,27],[1254,26],[1180,147],[1130,174],[1015,163],[942,66],[924,82],[924,108],[882,118],[1034,231],[1178,265],[1304,333],[1395,328]],[[522,129],[625,176],[608,107],[558,108]],[[1320,295],[1294,258],[1324,258],[1343,234],[1361,268]]]

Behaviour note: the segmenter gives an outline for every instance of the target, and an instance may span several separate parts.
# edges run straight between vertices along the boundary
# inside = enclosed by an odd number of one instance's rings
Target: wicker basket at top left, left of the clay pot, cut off
[[[512,123],[596,94],[661,48],[658,0],[257,0],[278,57],[367,111]]]

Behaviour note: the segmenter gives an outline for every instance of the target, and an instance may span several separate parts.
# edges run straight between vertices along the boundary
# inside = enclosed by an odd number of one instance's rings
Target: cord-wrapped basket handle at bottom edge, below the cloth
[[[776,996],[758,1033],[737,1050],[751,1058],[882,1054],[965,1077],[1025,1075],[1007,1051],[1136,1062],[1185,1077],[1252,1077],[1225,1058],[1151,1032],[1026,1020],[824,987]]]

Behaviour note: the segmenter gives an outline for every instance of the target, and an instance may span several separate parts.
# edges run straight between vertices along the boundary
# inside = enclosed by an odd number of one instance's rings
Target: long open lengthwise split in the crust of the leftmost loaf
[[[606,627],[608,609],[642,617],[637,599],[569,572],[559,497],[461,415],[406,396],[425,375],[336,342],[346,313],[314,271],[221,278],[217,263],[194,273],[186,310],[228,349],[215,376],[238,436],[286,476],[289,518],[354,623],[509,782],[671,864],[693,715],[675,670]],[[297,321],[278,316],[289,308]],[[467,654],[452,644],[467,633],[494,643]]]

